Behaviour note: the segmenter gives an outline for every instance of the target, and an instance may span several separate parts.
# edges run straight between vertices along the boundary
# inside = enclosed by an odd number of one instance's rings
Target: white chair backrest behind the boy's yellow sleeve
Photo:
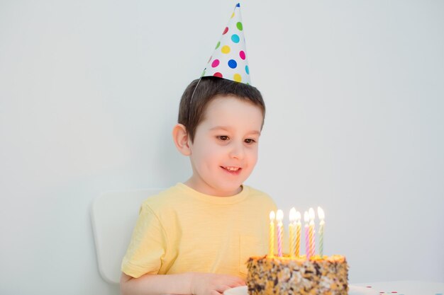
[[[121,262],[138,218],[140,205],[162,189],[105,192],[91,207],[91,223],[101,277],[111,284],[121,278]]]

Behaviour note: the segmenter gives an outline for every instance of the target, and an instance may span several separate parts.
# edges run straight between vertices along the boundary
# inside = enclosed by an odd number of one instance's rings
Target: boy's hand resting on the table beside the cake
[[[194,273],[191,282],[193,295],[220,295],[226,289],[245,286],[240,277],[228,274]]]

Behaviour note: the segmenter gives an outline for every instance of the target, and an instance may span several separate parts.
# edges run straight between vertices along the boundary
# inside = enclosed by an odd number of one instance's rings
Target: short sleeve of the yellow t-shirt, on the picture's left
[[[144,202],[122,261],[122,272],[134,278],[147,273],[157,274],[165,255],[166,243],[162,224],[147,202]]]

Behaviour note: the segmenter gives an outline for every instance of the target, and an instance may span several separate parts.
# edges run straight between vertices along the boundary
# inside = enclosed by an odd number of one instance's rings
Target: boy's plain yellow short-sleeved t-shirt
[[[246,185],[231,197],[178,183],[140,207],[121,270],[143,274],[211,272],[245,279],[246,260],[266,255],[273,200]]]

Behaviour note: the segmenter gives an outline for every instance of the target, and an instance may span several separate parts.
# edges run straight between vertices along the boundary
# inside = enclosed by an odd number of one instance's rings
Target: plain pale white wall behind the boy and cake
[[[187,179],[179,97],[235,1],[0,1],[0,294],[118,294],[100,192]],[[444,2],[244,1],[267,103],[249,184],[323,206],[350,282],[444,282]]]

